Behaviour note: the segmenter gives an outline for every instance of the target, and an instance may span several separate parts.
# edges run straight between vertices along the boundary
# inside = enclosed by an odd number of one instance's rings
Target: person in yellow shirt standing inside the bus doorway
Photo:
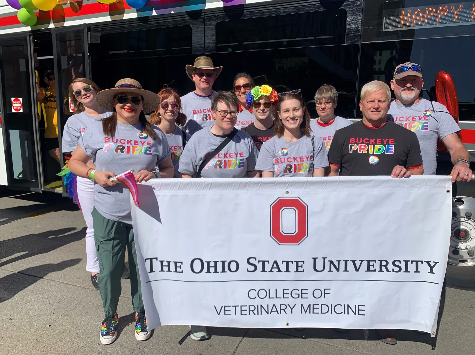
[[[58,123],[56,114],[56,85],[55,73],[48,71],[45,82],[48,89],[37,90],[36,99],[43,104],[45,113],[45,144],[48,154],[58,163],[59,160],[59,140],[58,140]]]

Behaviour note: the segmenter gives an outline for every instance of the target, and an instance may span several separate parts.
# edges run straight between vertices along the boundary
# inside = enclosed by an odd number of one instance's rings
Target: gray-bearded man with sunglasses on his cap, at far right
[[[436,174],[437,138],[440,138],[454,164],[450,173],[452,182],[475,180],[467,148],[457,135],[460,127],[444,105],[419,96],[423,86],[419,64],[399,64],[391,80],[396,100],[391,102],[388,119],[416,133],[424,161],[424,175]]]

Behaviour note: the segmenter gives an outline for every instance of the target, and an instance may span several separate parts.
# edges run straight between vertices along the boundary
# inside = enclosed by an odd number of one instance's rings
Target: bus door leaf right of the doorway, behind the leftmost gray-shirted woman
[[[74,104],[69,98],[69,84],[76,78],[89,78],[87,58],[87,28],[85,26],[59,27],[51,29],[53,35],[54,68],[56,77],[57,124],[61,164],[64,155],[61,145],[64,126],[74,115]],[[63,184],[63,195],[68,196]]]

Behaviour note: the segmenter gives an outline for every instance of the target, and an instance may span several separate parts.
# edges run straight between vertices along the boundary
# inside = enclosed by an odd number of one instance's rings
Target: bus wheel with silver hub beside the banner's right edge
[[[446,273],[447,285],[475,290],[475,199],[452,201],[452,228]]]

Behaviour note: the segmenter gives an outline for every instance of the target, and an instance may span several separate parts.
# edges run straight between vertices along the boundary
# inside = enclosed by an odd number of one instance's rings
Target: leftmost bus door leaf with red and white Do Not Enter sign
[[[31,34],[1,36],[0,140],[5,149],[7,186],[41,192],[44,184],[35,78]]]

